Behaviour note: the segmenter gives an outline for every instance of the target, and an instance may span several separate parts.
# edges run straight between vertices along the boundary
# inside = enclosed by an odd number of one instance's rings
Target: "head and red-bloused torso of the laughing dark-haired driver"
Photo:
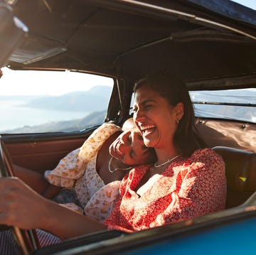
[[[199,148],[183,83],[158,74],[140,80],[134,92],[134,121],[157,161],[124,177],[105,224],[132,232],[224,209],[225,166],[210,148]]]

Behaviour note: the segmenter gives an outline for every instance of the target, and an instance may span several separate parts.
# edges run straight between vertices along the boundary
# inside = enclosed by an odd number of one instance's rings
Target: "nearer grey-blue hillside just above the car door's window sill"
[[[41,133],[41,132],[62,132],[62,131],[78,131],[86,129],[89,126],[102,124],[106,115],[106,110],[102,112],[92,112],[85,118],[72,121],[52,121],[38,126],[23,126],[18,129],[3,131],[6,134],[18,133]]]

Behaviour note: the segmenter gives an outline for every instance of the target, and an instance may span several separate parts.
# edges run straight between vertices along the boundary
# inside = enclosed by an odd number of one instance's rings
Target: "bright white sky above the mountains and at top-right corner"
[[[256,0],[232,0],[239,4],[256,10]],[[14,94],[51,94],[60,95],[71,91],[88,90],[95,85],[112,86],[113,81],[106,77],[95,77],[95,75],[79,74],[74,72],[60,73],[60,78],[55,72],[44,75],[41,71],[12,71],[2,68],[4,75],[0,80],[0,95]],[[65,78],[63,79],[63,75]],[[61,80],[61,82],[60,82]],[[25,82],[24,82],[25,81]],[[32,87],[31,84],[32,83]],[[54,85],[54,86],[53,86]]]

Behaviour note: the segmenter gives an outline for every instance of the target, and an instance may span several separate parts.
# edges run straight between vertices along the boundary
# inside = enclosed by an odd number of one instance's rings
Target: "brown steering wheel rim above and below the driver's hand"
[[[14,176],[12,161],[6,149],[3,139],[0,136],[0,177]],[[1,225],[1,229],[11,229],[14,239],[23,255],[31,254],[36,249],[40,249],[40,244],[35,229],[19,229],[18,227],[8,227]]]

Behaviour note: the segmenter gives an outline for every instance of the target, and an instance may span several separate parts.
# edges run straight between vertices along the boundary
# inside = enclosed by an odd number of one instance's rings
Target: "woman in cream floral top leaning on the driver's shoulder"
[[[129,156],[133,152],[136,156]],[[122,128],[105,123],[95,129],[80,148],[62,158],[55,169],[46,170],[48,182],[36,175],[40,180],[35,183],[33,173],[33,178],[27,183],[45,197],[54,195],[54,200],[65,207],[103,222],[112,210],[122,177],[129,166],[152,162],[154,155],[153,149],[144,146],[132,119],[125,121]],[[118,170],[110,173],[109,168]],[[14,168],[14,173],[21,179],[30,172],[26,168]],[[41,183],[45,184],[44,188],[38,188]]]

